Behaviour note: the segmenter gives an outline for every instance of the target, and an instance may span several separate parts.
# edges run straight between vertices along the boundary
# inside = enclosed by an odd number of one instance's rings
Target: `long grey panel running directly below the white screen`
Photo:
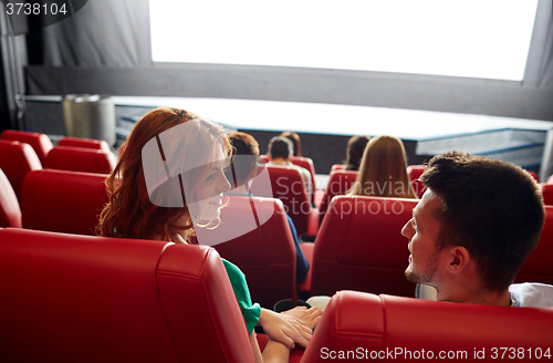
[[[28,94],[223,97],[382,106],[553,121],[553,89],[377,72],[188,64],[25,69]]]

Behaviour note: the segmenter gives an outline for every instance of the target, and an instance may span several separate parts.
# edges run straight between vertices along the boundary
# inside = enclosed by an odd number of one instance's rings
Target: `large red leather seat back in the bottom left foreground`
[[[3,362],[253,362],[216,250],[0,230]]]

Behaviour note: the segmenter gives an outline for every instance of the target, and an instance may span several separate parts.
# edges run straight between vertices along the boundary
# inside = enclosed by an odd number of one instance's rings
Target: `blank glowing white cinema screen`
[[[538,0],[150,0],[155,62],[520,81]]]

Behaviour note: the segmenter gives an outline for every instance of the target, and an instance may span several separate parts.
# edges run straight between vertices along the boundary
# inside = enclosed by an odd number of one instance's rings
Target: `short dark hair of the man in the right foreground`
[[[507,162],[448,152],[429,162],[420,180],[442,199],[437,249],[463,246],[486,288],[508,289],[543,227],[543,198],[534,178]]]

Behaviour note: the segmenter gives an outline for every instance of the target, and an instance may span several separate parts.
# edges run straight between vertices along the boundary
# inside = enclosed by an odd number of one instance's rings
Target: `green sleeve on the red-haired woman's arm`
[[[261,314],[261,307],[257,302],[251,302],[250,290],[248,290],[248,283],[246,282],[246,276],[243,272],[226,259],[221,258],[221,260],[225,265],[225,269],[227,269],[230,284],[232,284],[232,290],[234,291],[238,304],[242,311],[243,320],[248,326],[248,335],[250,335],[253,328],[258,324],[259,315]]]

